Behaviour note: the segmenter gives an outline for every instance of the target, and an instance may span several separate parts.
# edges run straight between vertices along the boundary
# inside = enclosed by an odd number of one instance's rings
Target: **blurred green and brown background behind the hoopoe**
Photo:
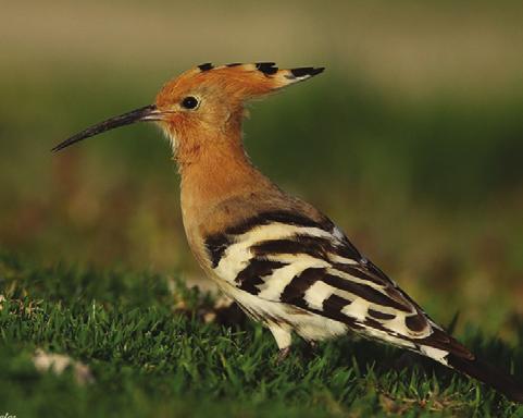
[[[59,155],[196,64],[325,65],[251,106],[246,146],[440,322],[523,317],[523,5],[501,1],[1,4],[0,247],[199,280],[151,125]]]

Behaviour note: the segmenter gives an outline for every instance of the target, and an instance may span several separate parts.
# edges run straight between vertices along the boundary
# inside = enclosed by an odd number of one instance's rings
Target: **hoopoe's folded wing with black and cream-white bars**
[[[262,300],[339,321],[444,364],[449,349],[471,356],[326,219],[263,213],[209,237],[207,246],[216,276]]]

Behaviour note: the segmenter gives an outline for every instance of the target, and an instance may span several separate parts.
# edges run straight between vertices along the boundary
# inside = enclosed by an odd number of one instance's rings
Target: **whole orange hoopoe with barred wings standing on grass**
[[[160,90],[154,104],[111,118],[53,148],[153,121],[172,143],[189,246],[209,278],[272,332],[314,343],[354,332],[429,357],[523,402],[512,377],[477,359],[311,205],[285,194],[242,146],[245,103],[320,74],[272,62],[210,63]]]

